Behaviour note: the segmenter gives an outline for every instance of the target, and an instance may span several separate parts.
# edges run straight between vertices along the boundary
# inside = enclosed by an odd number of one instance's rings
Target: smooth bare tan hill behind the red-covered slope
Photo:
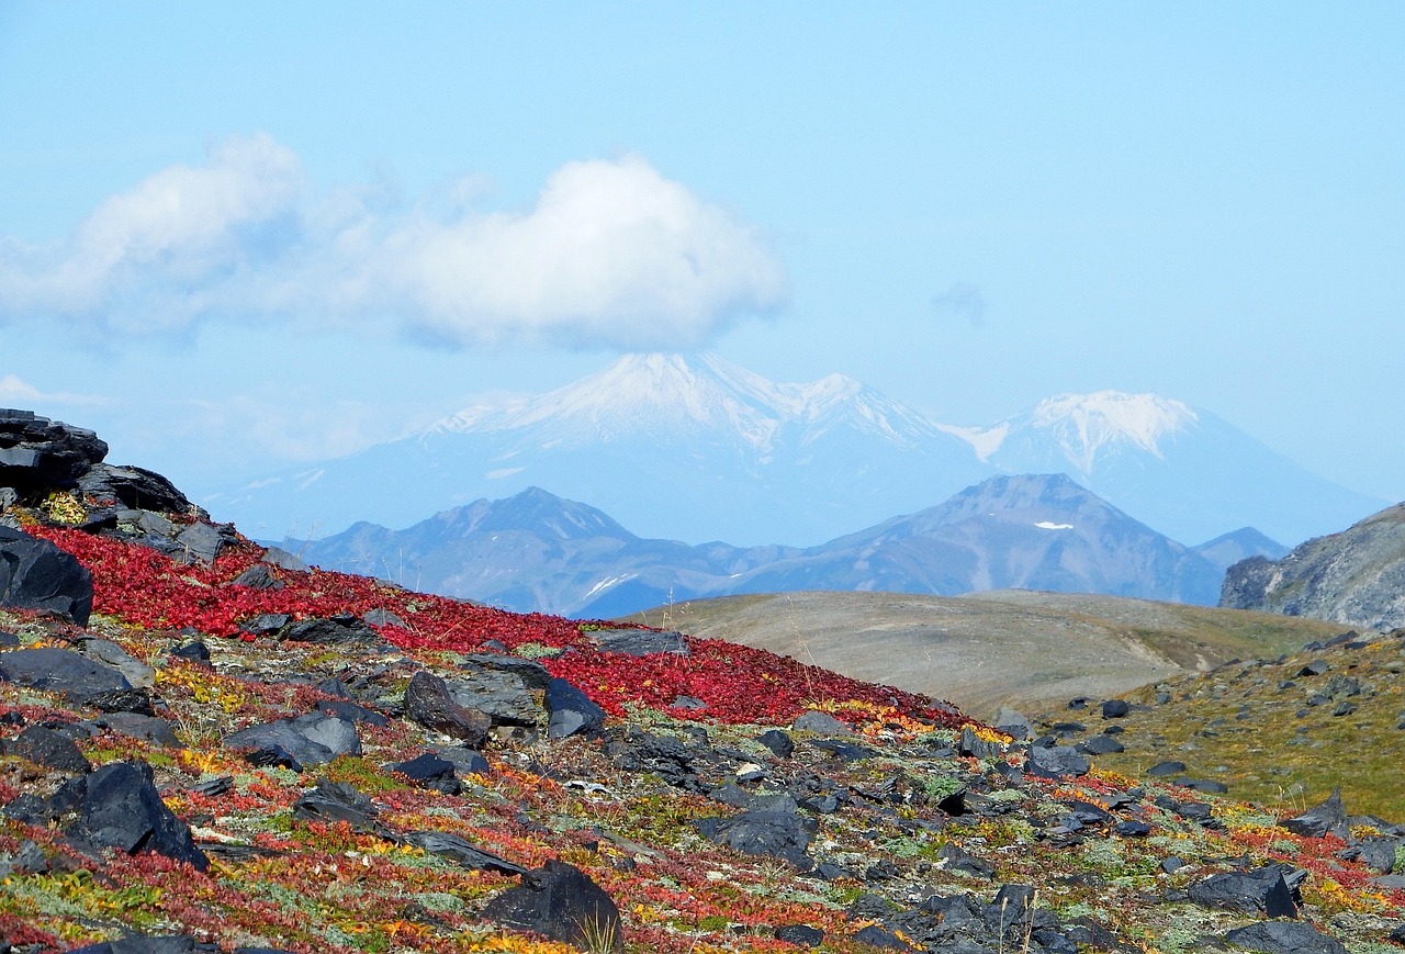
[[[1340,632],[1315,620],[1019,590],[759,594],[688,600],[622,618],[948,698],[982,718],[1000,705],[1034,710],[1116,695]]]

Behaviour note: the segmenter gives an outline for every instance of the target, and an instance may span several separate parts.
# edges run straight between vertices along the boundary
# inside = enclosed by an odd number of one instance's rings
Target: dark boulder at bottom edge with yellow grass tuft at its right
[[[520,885],[488,902],[483,917],[589,951],[624,948],[620,909],[580,868],[563,861],[528,871]]]

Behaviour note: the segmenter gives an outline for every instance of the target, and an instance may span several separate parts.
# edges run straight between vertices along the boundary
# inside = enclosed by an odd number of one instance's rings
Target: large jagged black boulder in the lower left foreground
[[[128,854],[155,851],[198,871],[209,867],[190,828],[162,802],[145,762],[114,762],[87,776],[77,829],[80,836]]]

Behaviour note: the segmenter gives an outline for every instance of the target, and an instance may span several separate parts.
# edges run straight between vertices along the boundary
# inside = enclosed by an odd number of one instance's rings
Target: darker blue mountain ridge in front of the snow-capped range
[[[285,545],[327,568],[582,618],[797,590],[955,596],[1020,587],[1213,604],[1222,575],[1064,475],[991,478],[936,507],[804,549],[646,540],[538,488],[400,531],[360,523]]]

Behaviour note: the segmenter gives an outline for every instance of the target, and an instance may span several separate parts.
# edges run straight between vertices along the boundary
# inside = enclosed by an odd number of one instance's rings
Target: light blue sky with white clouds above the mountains
[[[1405,4],[0,3],[0,406],[192,497],[635,350],[1405,499]],[[215,514],[218,518],[218,514]]]

